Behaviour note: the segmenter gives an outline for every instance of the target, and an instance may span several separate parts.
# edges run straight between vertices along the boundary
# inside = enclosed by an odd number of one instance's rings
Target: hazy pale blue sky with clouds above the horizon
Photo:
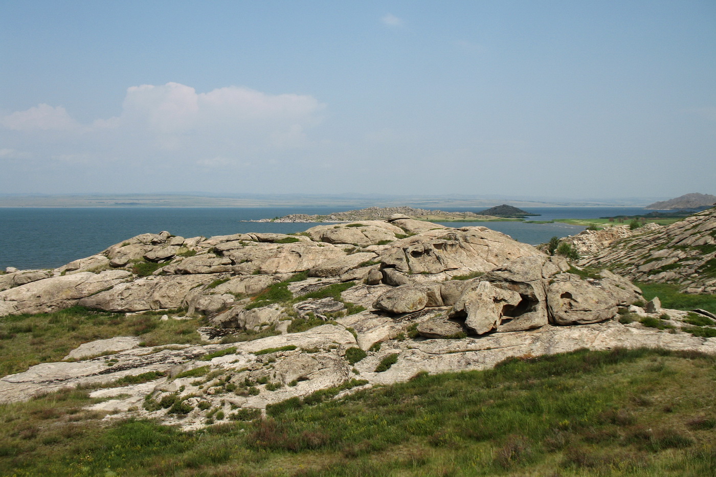
[[[0,0],[0,193],[716,193],[716,2]]]

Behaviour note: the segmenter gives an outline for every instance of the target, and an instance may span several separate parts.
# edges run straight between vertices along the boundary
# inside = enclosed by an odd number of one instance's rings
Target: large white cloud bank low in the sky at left
[[[127,89],[119,116],[87,125],[64,107],[45,104],[0,116],[0,143],[7,146],[3,155],[26,150],[70,163],[127,158],[197,164],[305,148],[311,144],[306,130],[321,121],[323,109],[308,95],[235,86],[198,93],[174,82],[140,85]]]

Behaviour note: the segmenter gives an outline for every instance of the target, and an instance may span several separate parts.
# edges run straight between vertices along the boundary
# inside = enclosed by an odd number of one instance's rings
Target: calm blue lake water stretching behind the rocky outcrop
[[[106,249],[140,233],[166,230],[193,237],[230,233],[294,233],[314,223],[242,222],[289,213],[326,214],[350,210],[331,207],[252,208],[0,208],[0,269],[55,268]],[[482,208],[448,208],[480,211]],[[644,213],[640,208],[524,208],[541,213],[534,220],[591,218]],[[552,236],[574,235],[584,227],[564,223],[444,223],[446,226],[484,225],[507,233],[518,241],[541,244]]]

